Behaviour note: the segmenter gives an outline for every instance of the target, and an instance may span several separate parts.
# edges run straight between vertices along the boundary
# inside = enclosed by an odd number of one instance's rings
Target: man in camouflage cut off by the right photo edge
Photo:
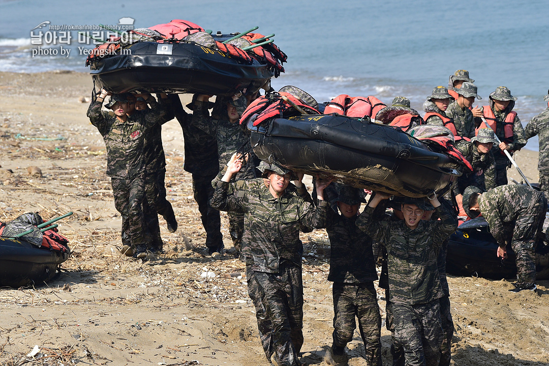
[[[537,170],[540,172],[540,190],[544,192],[545,198],[549,200],[549,90],[544,97],[547,108],[538,115],[535,115],[526,125],[524,131],[526,139],[537,135],[539,140],[539,157],[537,159]]]

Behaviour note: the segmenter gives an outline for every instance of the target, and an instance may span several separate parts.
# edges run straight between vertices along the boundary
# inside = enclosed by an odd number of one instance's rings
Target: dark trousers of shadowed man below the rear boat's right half
[[[211,181],[216,175],[217,173],[205,176],[193,174],[194,200],[198,203],[202,226],[206,230],[206,247],[208,248],[217,248],[223,244],[219,211],[210,206],[210,199],[214,196]]]

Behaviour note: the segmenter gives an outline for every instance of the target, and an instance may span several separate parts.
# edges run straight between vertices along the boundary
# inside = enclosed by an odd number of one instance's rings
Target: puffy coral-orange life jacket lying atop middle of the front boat
[[[368,116],[375,119],[377,113],[385,107],[386,104],[373,96],[350,97],[346,94],[341,94],[333,98],[326,105],[324,114],[337,113],[355,118]]]

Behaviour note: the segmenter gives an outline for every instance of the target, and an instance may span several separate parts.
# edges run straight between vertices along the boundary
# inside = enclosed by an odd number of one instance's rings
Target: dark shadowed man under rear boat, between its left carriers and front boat
[[[217,140],[215,136],[206,134],[206,132],[191,123],[191,118],[195,114],[200,113],[208,116],[208,108],[202,108],[200,111],[194,110],[191,116],[183,109],[179,97],[170,99],[170,102],[173,114],[183,130],[185,143],[185,165],[183,169],[193,176],[194,199],[198,204],[202,226],[206,231],[208,253],[221,253],[225,247],[221,235],[221,218],[219,211],[209,204],[211,197],[214,195],[211,181],[219,171]],[[194,109],[194,102],[187,104],[187,108]]]

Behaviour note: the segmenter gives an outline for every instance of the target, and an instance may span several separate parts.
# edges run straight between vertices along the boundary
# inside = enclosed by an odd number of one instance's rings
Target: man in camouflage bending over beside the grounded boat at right
[[[474,186],[463,192],[463,209],[470,218],[483,215],[506,258],[510,243],[517,259],[516,289],[536,291],[536,244],[542,235],[547,201],[544,193],[525,185],[498,186],[488,192]]]

